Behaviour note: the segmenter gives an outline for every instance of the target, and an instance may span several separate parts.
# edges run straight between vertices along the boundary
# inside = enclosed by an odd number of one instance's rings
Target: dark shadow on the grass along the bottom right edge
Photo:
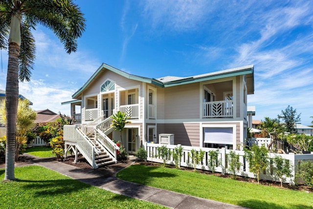
[[[283,197],[282,197],[283,198]],[[240,201],[238,205],[250,209],[313,209],[313,206],[292,204],[292,205],[278,205],[259,200],[244,200]]]

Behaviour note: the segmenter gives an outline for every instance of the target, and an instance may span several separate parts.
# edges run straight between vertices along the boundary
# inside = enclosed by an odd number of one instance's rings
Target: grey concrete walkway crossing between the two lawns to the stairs
[[[16,163],[15,166],[27,166],[31,164],[41,165],[57,171],[72,179],[77,179],[89,185],[97,186],[108,191],[145,200],[173,209],[243,209],[243,207],[230,205],[213,200],[194,197],[165,189],[144,186],[126,182],[116,178],[116,173],[135,162],[135,157],[130,157],[127,162],[112,164],[98,169],[81,169],[73,165],[55,161],[53,158],[38,158],[27,153],[31,158],[28,163]],[[3,168],[5,165],[0,165]]]

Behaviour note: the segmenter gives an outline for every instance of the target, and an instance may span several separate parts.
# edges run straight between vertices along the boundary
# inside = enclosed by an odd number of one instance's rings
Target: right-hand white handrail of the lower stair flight
[[[108,151],[108,154],[117,162],[117,153],[119,146],[116,145],[107,135],[99,128],[95,128],[95,139]]]

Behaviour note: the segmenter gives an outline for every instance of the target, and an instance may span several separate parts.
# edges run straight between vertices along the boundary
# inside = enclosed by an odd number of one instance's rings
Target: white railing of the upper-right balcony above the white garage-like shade
[[[233,101],[203,102],[202,117],[233,117]]]

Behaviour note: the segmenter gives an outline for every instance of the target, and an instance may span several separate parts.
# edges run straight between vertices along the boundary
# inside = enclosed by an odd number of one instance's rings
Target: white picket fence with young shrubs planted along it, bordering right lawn
[[[163,159],[160,157],[156,157],[157,156],[157,147],[161,146],[162,144],[155,144],[155,143],[146,143],[146,150],[147,150],[147,154],[148,154],[148,158],[147,161],[152,161],[152,162],[156,162],[156,163],[163,163]],[[177,147],[178,145],[166,145],[167,148],[170,149],[170,151],[173,151],[175,149],[175,147]],[[210,167],[210,165],[208,164],[209,161],[209,151],[210,150],[219,150],[219,155],[218,155],[218,162],[220,162],[220,164],[217,164],[217,166],[215,167],[215,172],[220,172],[222,174],[229,174],[229,164],[228,164],[228,154],[230,153],[231,150],[222,148],[222,149],[214,149],[214,148],[204,148],[204,147],[191,147],[191,146],[182,146],[183,148],[183,155],[180,161],[180,165],[184,166],[184,167],[193,167],[193,163],[192,163],[192,159],[189,158],[188,153],[190,153],[189,155],[191,155],[191,150],[195,149],[197,151],[203,150],[205,152],[205,155],[202,159],[201,164],[198,164],[196,166],[197,169],[202,169],[202,170],[209,170],[212,171],[212,168]],[[246,159],[244,158],[245,156],[245,152],[242,150],[234,150],[236,152],[236,154],[238,154],[240,163],[241,163],[241,167],[240,170],[238,172],[236,172],[236,175],[238,176],[244,176],[244,177],[250,177],[250,178],[256,178],[256,176],[254,175],[254,173],[249,171],[249,163],[246,161]],[[311,154],[302,154],[302,155],[295,155],[294,153],[290,153],[290,154],[276,154],[276,153],[268,153],[268,157],[269,159],[273,159],[276,155],[280,155],[283,157],[283,159],[289,160],[290,161],[290,165],[292,168],[292,177],[283,177],[283,182],[284,183],[294,183],[294,175],[297,169],[297,164],[299,163],[299,161],[303,161],[303,160],[311,160],[313,161],[313,153]],[[171,155],[170,160],[166,161],[167,164],[175,164],[173,156]],[[268,168],[260,174],[260,179],[263,180],[269,180],[269,181],[275,181],[275,182],[279,182],[279,178],[275,175],[273,175],[273,164],[269,163]]]

